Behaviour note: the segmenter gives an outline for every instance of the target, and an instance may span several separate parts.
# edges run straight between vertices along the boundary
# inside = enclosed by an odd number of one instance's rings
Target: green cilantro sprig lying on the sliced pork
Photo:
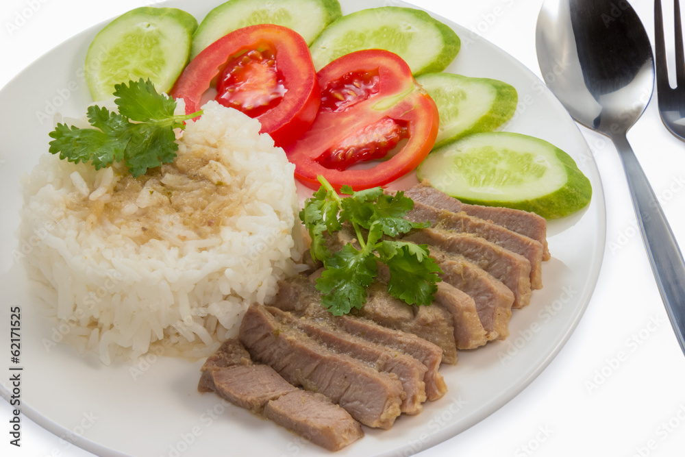
[[[321,291],[321,305],[341,316],[353,308],[361,309],[366,302],[366,288],[378,274],[377,262],[388,266],[388,293],[410,305],[429,305],[437,291],[442,273],[429,257],[427,245],[416,245],[393,239],[414,228],[429,223],[414,223],[404,219],[414,201],[403,192],[386,195],[382,188],[354,192],[343,186],[340,197],[325,180],[314,196],[305,202],[300,219],[312,238],[310,254],[324,265],[316,288]],[[353,227],[360,249],[347,244],[335,253],[326,247],[326,233],[334,234],[343,224]]]

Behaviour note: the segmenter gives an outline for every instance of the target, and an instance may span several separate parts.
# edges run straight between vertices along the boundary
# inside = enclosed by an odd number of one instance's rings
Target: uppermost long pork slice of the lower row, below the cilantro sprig
[[[306,317],[326,320],[346,332],[408,354],[426,367],[423,381],[429,400],[443,397],[447,392],[443,375],[438,372],[443,349],[414,334],[386,328],[369,319],[349,315],[334,316],[321,306],[321,293],[314,288],[308,277],[295,275],[279,282],[274,306]]]

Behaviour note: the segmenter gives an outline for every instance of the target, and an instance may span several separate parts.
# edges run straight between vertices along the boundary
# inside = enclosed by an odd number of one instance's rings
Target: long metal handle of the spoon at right
[[[619,151],[651,269],[673,331],[685,352],[685,262],[659,201],[625,135],[612,136]]]

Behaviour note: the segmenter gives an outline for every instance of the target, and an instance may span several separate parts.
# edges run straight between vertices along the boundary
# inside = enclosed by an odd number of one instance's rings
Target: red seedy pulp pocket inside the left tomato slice
[[[216,82],[216,101],[250,117],[261,116],[278,105],[287,89],[275,51],[265,48],[247,50],[226,62]]]

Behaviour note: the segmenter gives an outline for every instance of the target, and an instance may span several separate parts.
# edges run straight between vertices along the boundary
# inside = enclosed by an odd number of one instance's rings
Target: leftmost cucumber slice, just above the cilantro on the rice
[[[169,92],[188,63],[193,16],[177,8],[141,7],[106,25],[86,54],[86,82],[95,101],[109,99],[114,84],[150,79]]]

